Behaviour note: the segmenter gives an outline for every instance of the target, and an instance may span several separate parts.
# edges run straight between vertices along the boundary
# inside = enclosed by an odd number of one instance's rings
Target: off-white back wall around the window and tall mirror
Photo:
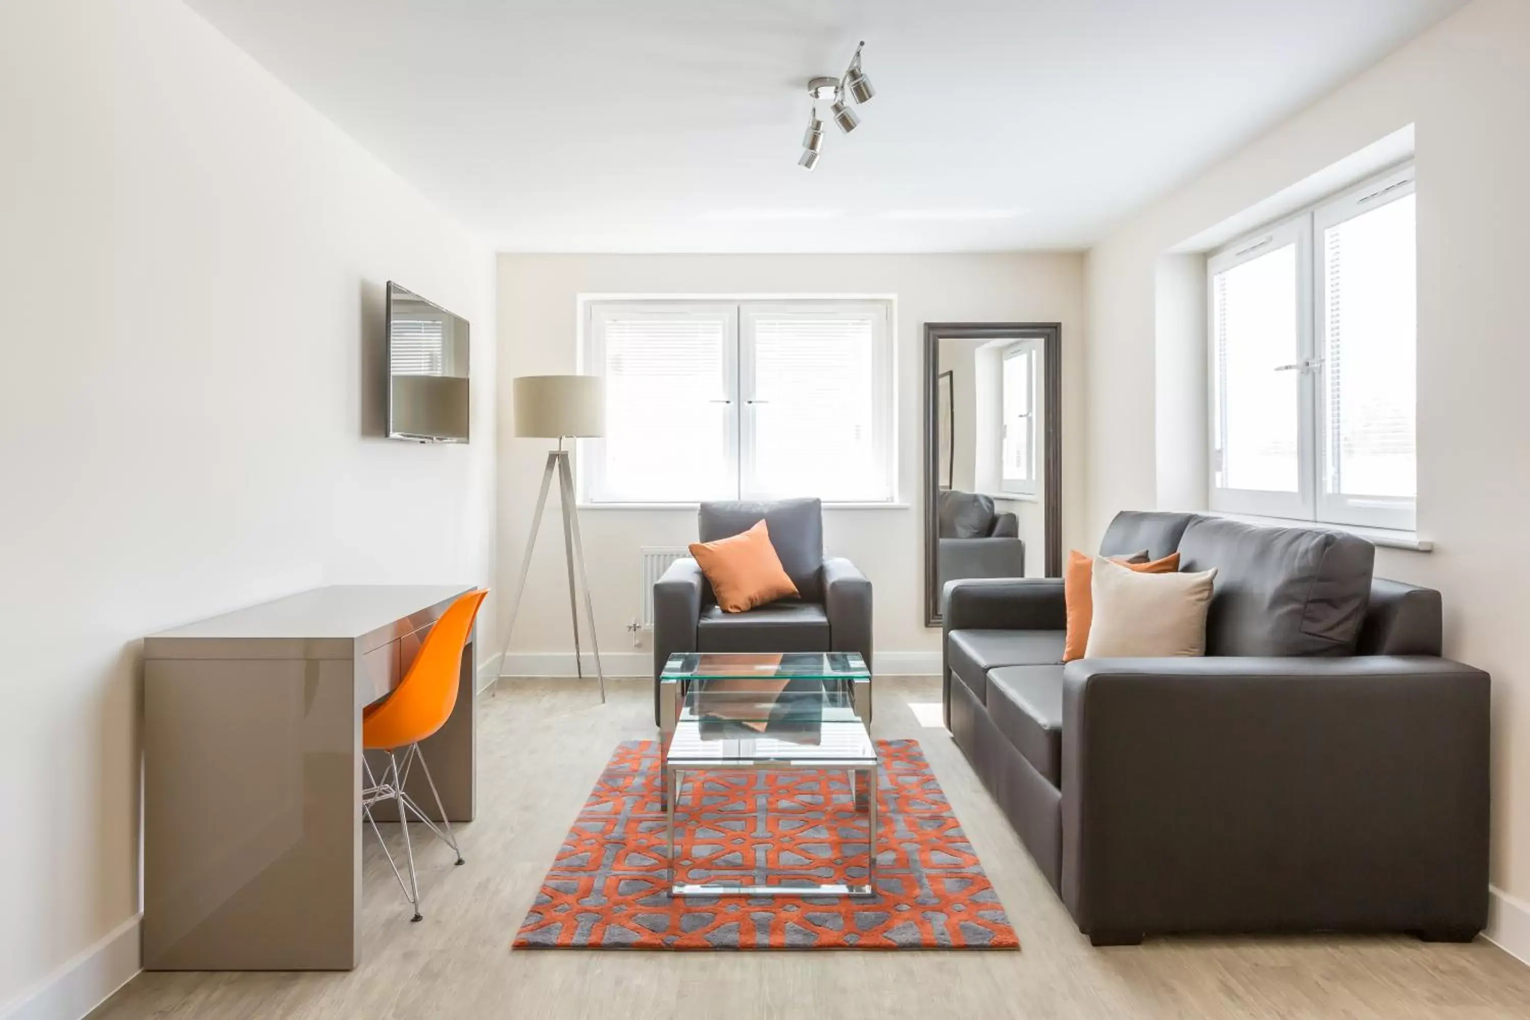
[[[831,509],[825,541],[871,578],[878,668],[923,664],[939,647],[924,627],[923,564],[923,324],[927,321],[1060,321],[1063,356],[1063,541],[1074,541],[1082,506],[1082,275],[1077,254],[1004,255],[500,255],[500,401],[519,375],[572,372],[578,294],[895,294],[898,350],[900,509]],[[500,587],[519,577],[546,445],[500,431]],[[1069,515],[1068,511],[1073,511]],[[552,511],[555,512],[555,511]],[[555,518],[554,518],[555,520]],[[638,612],[638,549],[696,538],[695,509],[589,509],[581,515],[603,651],[632,656],[626,625]],[[511,642],[513,670],[552,668],[525,653],[572,648],[562,540],[543,532]],[[508,593],[506,593],[508,598]],[[588,651],[588,647],[586,647]],[[907,659],[900,655],[920,653]],[[572,658],[568,658],[572,662]]]

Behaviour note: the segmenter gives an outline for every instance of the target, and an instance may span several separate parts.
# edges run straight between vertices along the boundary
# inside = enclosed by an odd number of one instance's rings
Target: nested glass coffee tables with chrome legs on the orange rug
[[[672,896],[874,896],[877,746],[871,671],[858,653],[676,653],[659,677],[664,810]],[[687,774],[843,771],[866,810],[866,881],[840,884],[688,884],[675,870],[675,809]],[[699,784],[693,801],[699,804]]]

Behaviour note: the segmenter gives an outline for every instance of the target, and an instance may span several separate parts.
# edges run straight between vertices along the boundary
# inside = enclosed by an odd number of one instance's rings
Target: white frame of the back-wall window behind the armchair
[[[728,450],[727,473],[734,479],[730,491],[713,499],[762,499],[754,482],[753,436],[754,436],[754,332],[751,320],[760,313],[812,315],[826,313],[861,318],[872,315],[872,372],[878,376],[874,385],[872,427],[875,430],[877,456],[881,459],[886,492],[878,497],[854,500],[825,500],[826,506],[898,506],[898,436],[897,436],[897,341],[894,336],[892,298],[838,298],[838,297],[580,297],[580,349],[578,369],[589,375],[601,375],[606,364],[604,330],[597,327],[601,317],[673,315],[684,309],[696,313],[724,317],[724,373],[715,398],[733,408],[725,414],[724,442]],[[731,343],[727,339],[731,336]],[[629,497],[610,492],[604,479],[604,457],[598,456],[595,443],[600,439],[580,439],[577,456],[577,500],[588,506],[632,506]],[[695,506],[695,499],[643,500],[640,506]]]

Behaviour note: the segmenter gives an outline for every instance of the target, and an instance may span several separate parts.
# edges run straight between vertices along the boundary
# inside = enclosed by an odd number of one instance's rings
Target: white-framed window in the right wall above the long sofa
[[[1411,531],[1412,167],[1207,260],[1212,509]]]

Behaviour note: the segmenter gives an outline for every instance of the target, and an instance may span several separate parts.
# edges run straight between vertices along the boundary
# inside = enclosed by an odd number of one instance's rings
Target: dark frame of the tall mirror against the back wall
[[[1062,577],[1062,324],[1060,323],[926,323],[924,324],[924,625],[941,625],[941,592],[936,584],[935,514],[939,485],[938,436],[935,421],[939,384],[939,343],[942,339],[1007,339],[1042,341],[1045,373],[1042,395],[1047,407],[1042,419],[1042,495],[1047,537],[1045,573]]]

